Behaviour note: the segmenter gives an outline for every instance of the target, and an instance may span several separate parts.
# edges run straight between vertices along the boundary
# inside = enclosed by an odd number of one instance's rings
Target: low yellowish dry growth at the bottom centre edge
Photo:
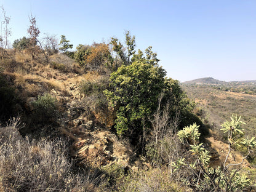
[[[110,182],[114,183],[114,188],[111,191],[124,192],[188,192],[189,188],[185,188],[181,183],[176,183],[172,180],[171,175],[164,169],[140,170],[124,174],[122,167],[113,164],[105,167],[104,170],[111,176]]]

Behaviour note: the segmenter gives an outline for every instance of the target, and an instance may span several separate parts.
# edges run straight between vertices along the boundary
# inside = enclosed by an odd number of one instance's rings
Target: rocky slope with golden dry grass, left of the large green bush
[[[97,81],[101,75],[86,73],[62,54],[52,55],[50,62],[44,63],[43,58],[31,61],[29,55],[16,52],[2,66],[2,81],[6,81],[9,89],[14,89],[12,113],[19,114],[25,122],[25,127],[20,129],[23,135],[41,130],[50,137],[64,135],[73,142],[71,155],[92,167],[116,162],[124,167],[135,165],[132,163],[136,154],[111,132],[111,115],[106,119],[95,113],[94,103],[86,106],[85,95],[81,94],[81,82]],[[45,94],[56,98],[57,112],[47,117],[49,119],[41,119],[46,114],[37,113],[34,105],[40,95]],[[4,118],[2,116],[2,120]]]

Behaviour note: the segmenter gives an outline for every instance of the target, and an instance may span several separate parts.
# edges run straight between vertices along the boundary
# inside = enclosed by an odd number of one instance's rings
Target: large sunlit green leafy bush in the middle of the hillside
[[[121,66],[110,77],[111,90],[105,95],[117,110],[116,130],[122,135],[127,130],[142,129],[158,103],[164,88],[166,71],[150,64],[134,62]]]

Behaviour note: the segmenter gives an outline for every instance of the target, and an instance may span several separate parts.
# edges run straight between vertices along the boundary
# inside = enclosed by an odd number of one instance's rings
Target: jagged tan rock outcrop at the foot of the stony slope
[[[87,124],[92,126],[92,122],[87,122]],[[135,154],[118,142],[116,135],[108,130],[94,130],[90,134],[91,137],[81,139],[74,145],[76,152],[73,155],[77,156],[81,163],[89,164],[91,167],[113,163],[129,166],[130,156]]]

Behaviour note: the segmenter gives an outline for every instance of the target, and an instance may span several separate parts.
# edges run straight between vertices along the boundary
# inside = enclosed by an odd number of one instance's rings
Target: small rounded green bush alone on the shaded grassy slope
[[[33,107],[36,122],[49,122],[57,117],[57,100],[50,94],[38,96],[38,100],[33,102]]]

